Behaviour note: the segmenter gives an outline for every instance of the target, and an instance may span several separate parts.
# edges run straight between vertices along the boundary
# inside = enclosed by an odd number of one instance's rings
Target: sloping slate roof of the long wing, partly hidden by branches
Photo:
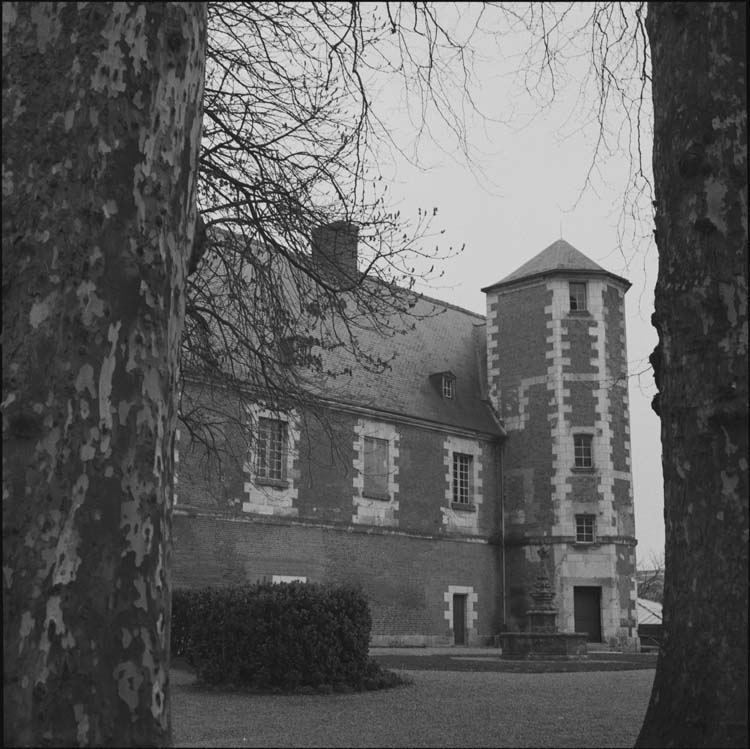
[[[255,251],[262,252],[263,248],[258,245]],[[299,279],[291,280],[291,270],[283,258],[275,256],[275,260],[275,273],[285,286],[285,295],[295,300],[295,284]],[[309,283],[309,279],[306,282]],[[371,283],[380,282],[371,280]],[[347,347],[314,346],[312,353],[320,355],[323,372],[338,374],[327,376],[302,366],[298,370],[300,387],[332,405],[380,411],[384,421],[399,416],[410,417],[443,427],[504,436],[503,428],[493,416],[487,394],[484,315],[403,291],[409,299],[401,301],[413,302],[409,316],[403,320],[397,313],[393,313],[390,321],[380,320],[385,323],[382,325],[356,311],[348,317],[359,348],[374,359],[389,361],[385,371],[367,370]],[[389,294],[384,296],[388,298]],[[384,334],[383,331],[389,329],[404,332]],[[326,337],[324,330],[308,329],[304,324],[300,334]],[[347,335],[341,340],[347,340]],[[435,378],[430,380],[430,375],[441,372],[455,376],[455,397],[452,399],[442,397],[439,378],[438,381]],[[251,378],[246,384],[251,389],[254,384],[257,386]],[[261,389],[262,386],[260,378]]]

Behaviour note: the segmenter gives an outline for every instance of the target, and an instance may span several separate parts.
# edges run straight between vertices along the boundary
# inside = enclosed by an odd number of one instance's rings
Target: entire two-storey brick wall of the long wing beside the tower
[[[459,594],[466,596],[470,643],[499,631],[502,560],[488,543],[497,541],[500,527],[497,442],[340,411],[322,419],[293,414],[289,425],[294,454],[287,486],[278,490],[283,504],[261,501],[253,488],[252,434],[232,434],[239,458],[206,473],[181,429],[173,585],[275,575],[359,584],[371,602],[373,642],[379,644],[452,643],[453,596]],[[364,434],[390,440],[391,501],[361,496]],[[445,523],[446,445],[476,461],[479,493],[469,528]],[[394,511],[380,517],[378,511],[391,506]]]

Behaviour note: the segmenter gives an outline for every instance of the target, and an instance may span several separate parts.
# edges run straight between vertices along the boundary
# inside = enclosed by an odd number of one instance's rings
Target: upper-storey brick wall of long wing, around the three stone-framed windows
[[[248,429],[251,431],[249,421]],[[205,463],[184,425],[176,444],[179,452],[177,507],[210,511],[229,517],[256,514],[288,516],[315,523],[389,526],[425,534],[458,533],[487,537],[500,523],[498,465],[495,441],[451,436],[450,433],[398,422],[379,422],[340,411],[320,418],[296,414],[289,419],[287,486],[255,487],[252,433],[238,435],[239,425],[225,427],[234,453],[225,463]],[[361,438],[364,433],[390,437],[393,463],[391,500],[362,496]],[[446,440],[475,454],[476,512],[470,527],[446,523],[450,512],[451,476],[446,473]],[[217,446],[221,450],[221,441]],[[246,450],[244,459],[242,450]],[[264,501],[264,494],[268,498]],[[382,517],[381,517],[382,516]]]

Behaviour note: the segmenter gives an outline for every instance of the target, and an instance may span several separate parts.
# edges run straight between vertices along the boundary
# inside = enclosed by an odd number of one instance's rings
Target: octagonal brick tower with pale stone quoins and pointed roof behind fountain
[[[637,647],[629,287],[560,239],[483,289],[490,398],[508,433],[508,629],[526,629],[546,563],[561,632],[588,632],[590,647]]]

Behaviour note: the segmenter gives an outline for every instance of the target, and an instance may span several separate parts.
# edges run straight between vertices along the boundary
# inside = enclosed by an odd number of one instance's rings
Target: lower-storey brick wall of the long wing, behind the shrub
[[[361,585],[378,644],[451,644],[450,586],[471,589],[470,643],[499,631],[497,549],[469,540],[281,520],[174,519],[173,587],[255,582],[273,575]]]

